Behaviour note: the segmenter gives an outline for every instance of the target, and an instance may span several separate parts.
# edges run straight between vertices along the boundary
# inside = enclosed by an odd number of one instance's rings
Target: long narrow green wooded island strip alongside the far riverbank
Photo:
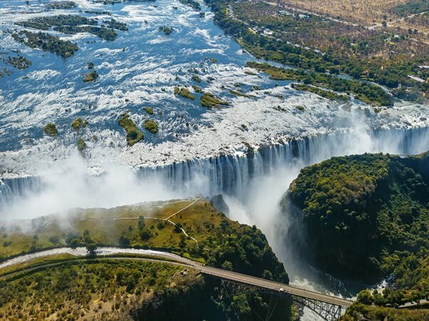
[[[393,105],[391,95],[386,93],[381,87],[371,84],[362,86],[357,80],[340,79],[334,75],[327,75],[325,73],[314,73],[306,70],[285,69],[274,67],[268,63],[248,62],[247,67],[255,68],[264,73],[268,73],[270,78],[274,80],[298,80],[304,85],[295,84],[295,88],[302,88],[317,93],[323,97],[331,97],[338,100],[346,99],[345,95],[338,95],[331,93],[327,90],[321,90],[309,85],[321,85],[330,90],[339,93],[352,93],[359,100],[373,105],[390,106]],[[301,90],[301,89],[299,89]]]

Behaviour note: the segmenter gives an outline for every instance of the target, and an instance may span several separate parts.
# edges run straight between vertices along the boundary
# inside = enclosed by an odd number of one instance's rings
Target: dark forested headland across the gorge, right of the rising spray
[[[377,305],[429,297],[429,153],[363,154],[306,167],[284,206],[304,220],[309,250],[330,273],[390,276]],[[293,206],[292,206],[293,207]]]

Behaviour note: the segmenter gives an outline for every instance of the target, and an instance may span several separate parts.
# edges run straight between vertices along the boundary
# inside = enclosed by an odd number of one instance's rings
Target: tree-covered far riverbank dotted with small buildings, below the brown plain
[[[345,26],[320,16],[309,15],[305,19],[281,16],[276,6],[264,2],[205,2],[225,33],[236,38],[257,58],[310,70],[315,73],[314,77],[344,73],[355,79],[353,91],[378,105],[391,105],[391,98],[378,95],[381,88],[377,93],[374,89],[377,86],[368,87],[368,83],[361,80],[392,90],[401,84],[406,90],[415,90],[420,97],[427,97],[429,93],[428,82],[418,83],[408,78],[408,75],[428,78],[428,70],[420,70],[418,65],[427,63],[429,47],[408,37],[407,33]],[[348,83],[345,79],[341,81]],[[331,86],[326,88],[341,91]]]

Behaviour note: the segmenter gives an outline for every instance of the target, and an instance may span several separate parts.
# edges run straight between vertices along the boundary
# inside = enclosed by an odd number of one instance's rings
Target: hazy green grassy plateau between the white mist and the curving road
[[[3,226],[4,233],[0,236],[0,241],[10,244],[0,248],[0,257],[7,258],[43,248],[69,246],[72,239],[78,239],[79,245],[85,245],[88,243],[86,238],[90,238],[99,245],[120,246],[121,236],[129,240],[129,246],[169,248],[177,253],[189,254],[196,245],[195,241],[186,238],[181,231],[175,231],[175,226],[164,219],[190,203],[191,201],[177,201],[135,207],[120,206],[115,209],[76,210],[68,214],[67,218],[46,216],[33,220],[33,223],[27,221],[10,226],[7,230]],[[144,223],[139,223],[140,216],[145,217]],[[113,220],[117,217],[120,219]],[[171,221],[181,224],[190,236],[195,236],[197,241],[203,242],[209,238],[212,228],[219,226],[221,219],[222,216],[217,214],[210,204],[198,201],[174,216]],[[36,226],[31,228],[31,232],[20,228],[30,224]],[[70,226],[63,229],[63,224]],[[88,231],[88,236],[83,236],[84,231]],[[143,240],[142,233],[148,233],[149,238]]]

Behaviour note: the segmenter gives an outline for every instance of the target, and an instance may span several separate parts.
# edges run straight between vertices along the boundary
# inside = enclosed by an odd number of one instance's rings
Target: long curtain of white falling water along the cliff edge
[[[331,135],[294,138],[249,149],[247,153],[222,154],[207,159],[192,159],[160,167],[143,167],[135,173],[137,180],[155,177],[172,191],[183,196],[226,194],[240,201],[249,197],[249,184],[276,171],[300,169],[333,156],[388,152],[417,154],[429,149],[429,128],[410,130],[351,131]],[[88,179],[96,179],[89,177]],[[61,184],[68,184],[64,181]],[[0,180],[0,204],[19,196],[41,192],[44,177],[19,177]],[[55,188],[61,189],[62,186]],[[78,206],[78,204],[76,204]]]

